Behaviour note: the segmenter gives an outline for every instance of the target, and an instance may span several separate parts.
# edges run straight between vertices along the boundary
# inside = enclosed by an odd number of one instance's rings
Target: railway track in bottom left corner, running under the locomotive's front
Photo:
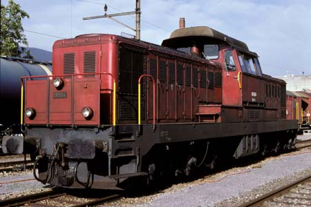
[[[50,190],[44,193],[36,193],[12,199],[0,201],[0,206],[95,206],[103,204],[108,201],[120,199],[120,195],[108,195],[100,198],[82,198],[68,195],[67,193],[59,192],[57,190]]]

